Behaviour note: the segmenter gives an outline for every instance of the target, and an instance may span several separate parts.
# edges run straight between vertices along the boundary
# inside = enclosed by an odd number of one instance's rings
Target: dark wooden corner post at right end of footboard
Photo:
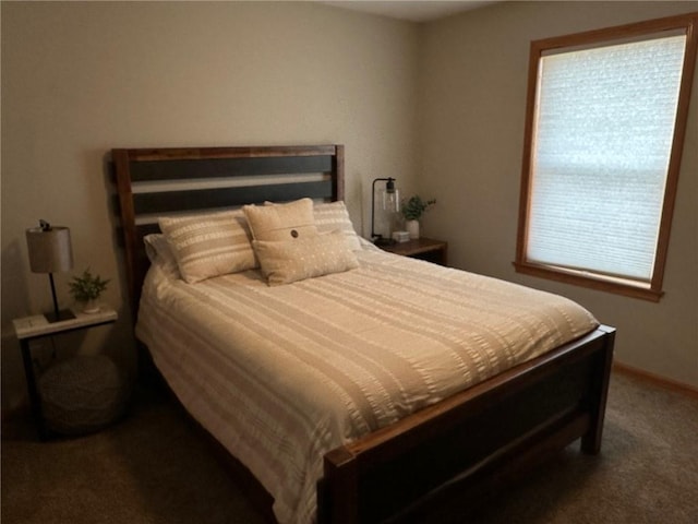
[[[603,433],[603,419],[606,413],[606,398],[609,383],[611,382],[611,368],[613,366],[613,346],[615,344],[615,329],[606,325],[599,326],[605,333],[603,337],[603,352],[594,359],[593,384],[591,391],[590,426],[581,437],[581,451],[595,455],[601,451],[601,438]]]

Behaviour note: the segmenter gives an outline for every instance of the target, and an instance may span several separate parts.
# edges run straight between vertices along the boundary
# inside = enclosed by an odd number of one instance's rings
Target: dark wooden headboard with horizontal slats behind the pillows
[[[136,319],[148,267],[143,237],[157,217],[264,201],[344,200],[344,146],[115,148],[111,151]]]

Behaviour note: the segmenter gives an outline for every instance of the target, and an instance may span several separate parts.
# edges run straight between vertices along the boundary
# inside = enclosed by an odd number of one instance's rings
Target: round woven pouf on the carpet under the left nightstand
[[[125,390],[119,368],[104,355],[56,364],[39,379],[46,427],[71,436],[97,431],[122,415]]]

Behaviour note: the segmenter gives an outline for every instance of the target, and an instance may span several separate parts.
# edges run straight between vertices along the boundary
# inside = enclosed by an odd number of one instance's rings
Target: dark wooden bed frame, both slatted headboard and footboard
[[[341,145],[118,148],[112,162],[134,319],[148,266],[143,237],[157,231],[157,215],[301,196],[344,199]],[[185,180],[222,187],[181,189]],[[165,189],[171,183],[180,186]],[[317,484],[318,522],[424,522],[454,501],[462,514],[577,439],[582,452],[598,453],[614,336],[602,325],[327,453]]]

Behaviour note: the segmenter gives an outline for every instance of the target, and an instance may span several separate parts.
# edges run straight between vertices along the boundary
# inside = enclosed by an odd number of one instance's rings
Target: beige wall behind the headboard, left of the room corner
[[[2,407],[25,384],[11,319],[50,308],[24,230],[71,228],[75,272],[115,279],[113,329],[59,353],[134,348],[112,238],[111,147],[342,143],[347,201],[370,229],[371,180],[413,184],[417,27],[313,3],[2,2]],[[57,275],[62,303],[67,276]],[[38,355],[49,352],[40,348]]]

